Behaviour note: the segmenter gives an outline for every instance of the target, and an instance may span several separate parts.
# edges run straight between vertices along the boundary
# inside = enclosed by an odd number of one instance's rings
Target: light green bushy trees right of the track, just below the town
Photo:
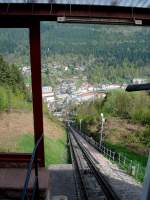
[[[124,90],[109,92],[104,100],[85,102],[73,108],[76,119],[95,120],[101,112],[105,115],[129,119],[145,125],[150,123],[150,95],[147,92],[127,93]]]

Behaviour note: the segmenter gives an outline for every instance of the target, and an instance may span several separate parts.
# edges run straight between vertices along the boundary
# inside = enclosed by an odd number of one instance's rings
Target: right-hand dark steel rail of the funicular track
[[[75,136],[74,132],[75,133],[77,133],[77,132],[74,131],[74,129],[72,129],[72,127],[70,127],[70,130],[73,133],[74,139],[76,140],[77,144],[79,145],[80,149],[82,150],[84,157],[85,157],[91,171],[93,172],[97,182],[101,186],[101,188],[102,188],[104,194],[106,195],[107,199],[108,200],[120,200],[120,198],[118,197],[116,192],[113,190],[112,186],[109,184],[109,182],[106,180],[104,175],[102,175],[102,173],[96,167],[96,164],[93,161],[93,159],[90,157],[89,152],[87,152],[86,148],[82,145],[81,142],[79,142],[79,140]]]

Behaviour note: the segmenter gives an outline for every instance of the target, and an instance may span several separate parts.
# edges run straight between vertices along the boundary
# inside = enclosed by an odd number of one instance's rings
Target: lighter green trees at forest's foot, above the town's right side
[[[116,60],[117,61],[117,60]],[[91,83],[130,83],[134,78],[146,77],[148,67],[139,67],[125,59],[122,63],[92,64],[87,68],[87,77]]]

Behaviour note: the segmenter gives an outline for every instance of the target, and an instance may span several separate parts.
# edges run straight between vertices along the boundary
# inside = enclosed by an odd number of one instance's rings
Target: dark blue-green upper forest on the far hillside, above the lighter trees
[[[99,61],[150,63],[149,28],[42,22],[42,55],[94,55]],[[29,55],[26,29],[1,29],[0,52]],[[109,50],[109,51],[108,51]],[[139,56],[140,55],[140,56]]]

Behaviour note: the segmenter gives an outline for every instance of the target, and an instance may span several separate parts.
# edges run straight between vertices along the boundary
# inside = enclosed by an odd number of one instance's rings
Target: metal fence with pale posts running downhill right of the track
[[[93,140],[92,137],[89,137],[81,132],[80,134],[86,141],[88,141],[92,146],[94,146],[106,158],[119,165],[121,169],[124,169],[129,175],[135,177],[136,180],[143,182],[145,175],[145,167],[143,167],[140,163],[134,160],[130,160],[121,153],[112,151],[105,145],[100,146],[99,143]]]

